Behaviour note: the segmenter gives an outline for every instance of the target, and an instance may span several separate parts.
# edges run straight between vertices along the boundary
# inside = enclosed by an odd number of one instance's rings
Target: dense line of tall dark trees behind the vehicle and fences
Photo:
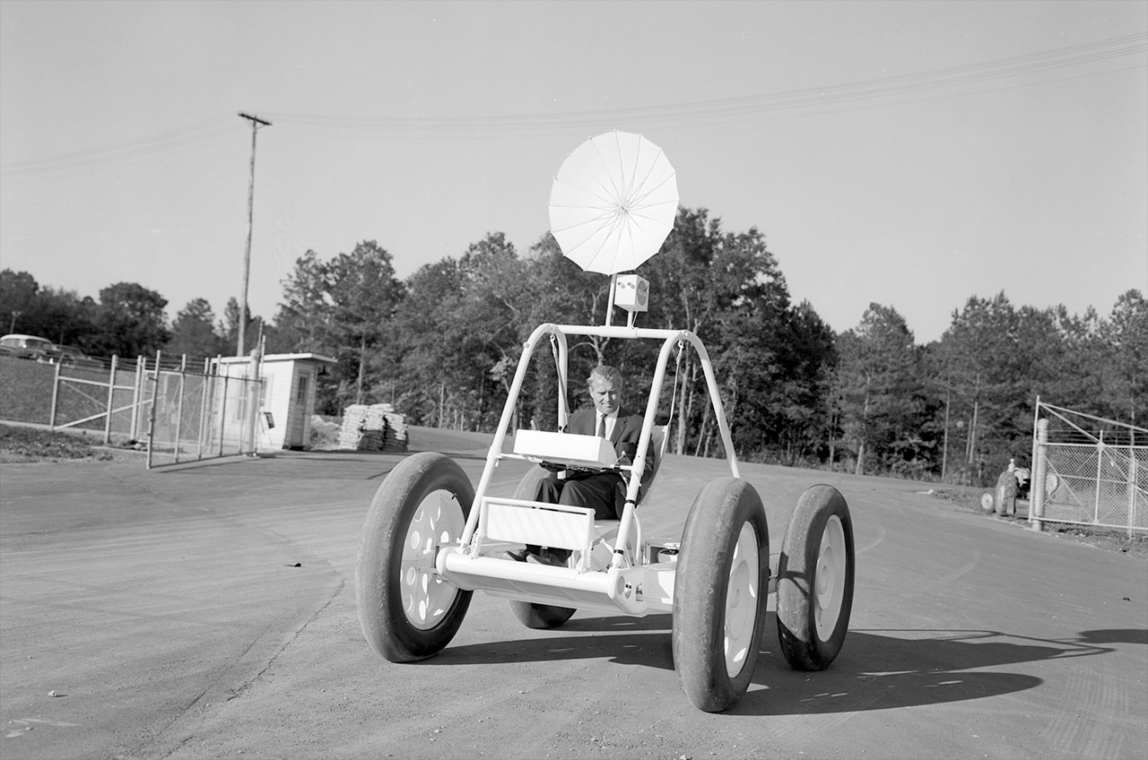
[[[1038,395],[1099,418],[1148,418],[1148,304],[1135,289],[1107,316],[1015,307],[1004,293],[971,296],[925,346],[895,308],[874,303],[837,334],[810,303],[791,301],[757,228],[726,231],[700,208],[678,210],[641,274],[653,296],[638,324],[703,339],[744,460],[985,484],[1010,458],[1027,464]],[[301,256],[274,318],[246,315],[247,335],[262,335],[267,352],[338,360],[320,378],[319,413],[388,402],[416,425],[491,431],[527,336],[545,321],[603,324],[608,285],[564,257],[549,233],[525,255],[490,233],[405,280],[386,249],[363,241],[332,258]],[[26,272],[5,270],[0,319],[98,355],[234,350],[234,298],[218,320],[193,300],[169,326],[155,292],[121,282],[99,295],[41,289]],[[580,379],[599,363],[618,366],[629,401],[644,405],[659,348],[572,339],[572,405],[584,401]],[[698,357],[685,351],[674,366],[659,413],[670,421],[673,406],[672,450],[723,456]],[[537,351],[515,424],[551,428],[557,394],[553,359]]]

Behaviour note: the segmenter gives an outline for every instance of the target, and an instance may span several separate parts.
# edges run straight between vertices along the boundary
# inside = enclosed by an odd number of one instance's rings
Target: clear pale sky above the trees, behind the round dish
[[[584,139],[760,230],[836,331],[1148,293],[1148,2],[0,0],[0,267],[272,318],[308,249],[526,253]],[[639,270],[641,272],[641,270]],[[658,284],[653,282],[653,297]]]

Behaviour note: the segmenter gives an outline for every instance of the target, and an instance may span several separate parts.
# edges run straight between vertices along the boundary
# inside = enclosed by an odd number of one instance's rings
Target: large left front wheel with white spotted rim
[[[430,451],[400,462],[375,491],[355,595],[363,635],[391,662],[436,654],[458,633],[472,592],[439,577],[434,561],[458,543],[473,502],[463,468]]]

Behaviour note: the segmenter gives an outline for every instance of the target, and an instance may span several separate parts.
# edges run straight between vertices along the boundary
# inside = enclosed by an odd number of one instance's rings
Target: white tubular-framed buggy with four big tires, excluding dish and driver
[[[551,224],[557,238],[553,214]],[[523,343],[476,488],[457,463],[434,452],[403,459],[380,484],[356,567],[359,622],[375,651],[408,662],[450,643],[478,590],[510,599],[530,628],[561,626],[576,610],[638,618],[669,612],[682,690],[698,708],[720,712],[742,698],[753,677],[769,594],[777,595],[777,633],[790,666],[817,670],[837,657],[853,603],[852,519],[837,489],[814,486],[799,497],[779,551],[770,555],[766,510],[739,475],[705,346],[689,331],[635,327],[635,313],[645,310],[645,280],[614,273],[613,286],[605,325],[543,324]],[[615,302],[630,312],[627,326],[610,324]],[[572,433],[517,431],[513,449],[505,450],[530,358],[546,341],[559,388],[558,422],[565,429],[569,336],[660,342],[633,463],[619,463],[605,439]],[[667,437],[656,424],[661,388],[670,356],[680,367],[690,349],[704,371],[730,474],[700,484],[680,541],[659,542],[642,532],[639,511],[658,506],[639,499],[649,497],[641,494],[637,473],[649,458],[654,468],[661,464]],[[616,470],[628,481],[621,519],[596,520],[590,507],[534,501],[538,480],[548,474],[542,466],[530,467],[513,497],[494,496],[491,476],[504,460]],[[550,566],[504,557],[522,544],[568,550],[569,559],[566,566]]]

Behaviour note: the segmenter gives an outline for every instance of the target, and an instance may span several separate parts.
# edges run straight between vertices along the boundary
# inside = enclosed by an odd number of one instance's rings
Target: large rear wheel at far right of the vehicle
[[[832,486],[806,489],[785,527],[777,564],[777,637],[797,670],[829,667],[853,608],[853,519]]]

